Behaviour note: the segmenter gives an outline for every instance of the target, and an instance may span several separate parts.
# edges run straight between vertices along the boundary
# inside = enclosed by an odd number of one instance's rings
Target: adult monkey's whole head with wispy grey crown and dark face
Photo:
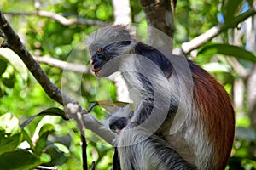
[[[134,40],[125,26],[108,26],[88,37],[90,65],[97,77],[108,77],[119,70],[121,56],[129,54]]]

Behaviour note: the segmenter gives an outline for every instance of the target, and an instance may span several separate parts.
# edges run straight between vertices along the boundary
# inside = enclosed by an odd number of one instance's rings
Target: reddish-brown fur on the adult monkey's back
[[[213,150],[213,164],[217,170],[224,169],[230,157],[235,118],[230,97],[207,71],[189,63],[194,80],[194,101],[201,122],[206,123],[206,135]]]

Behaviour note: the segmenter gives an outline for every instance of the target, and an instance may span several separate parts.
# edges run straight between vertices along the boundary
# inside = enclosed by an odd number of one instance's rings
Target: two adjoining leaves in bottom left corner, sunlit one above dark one
[[[38,156],[28,150],[16,150],[22,137],[17,117],[10,113],[0,116],[0,169],[30,169],[40,165]]]

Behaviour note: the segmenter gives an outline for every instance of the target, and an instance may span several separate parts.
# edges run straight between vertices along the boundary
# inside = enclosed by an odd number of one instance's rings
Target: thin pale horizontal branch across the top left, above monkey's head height
[[[3,14],[9,14],[9,15],[37,15],[44,18],[49,18],[51,20],[55,20],[61,25],[64,26],[71,26],[74,24],[79,25],[96,25],[96,26],[108,26],[108,22],[104,22],[101,20],[90,20],[90,19],[82,19],[82,18],[76,18],[76,19],[67,19],[66,17],[62,16],[61,14],[55,14],[54,12],[48,12],[48,11],[36,11],[36,12],[3,12]]]

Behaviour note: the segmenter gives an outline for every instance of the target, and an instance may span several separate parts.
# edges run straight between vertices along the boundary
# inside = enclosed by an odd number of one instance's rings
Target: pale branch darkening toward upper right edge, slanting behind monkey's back
[[[239,23],[247,20],[247,18],[253,16],[254,14],[256,14],[256,8],[250,8],[247,10],[247,12],[239,14],[234,20],[231,20],[230,22],[219,24],[218,26],[213,26],[210,30],[206,31],[198,37],[195,37],[191,41],[184,42],[180,48],[175,48],[173,50],[173,54],[189,54],[189,52],[195,48],[199,48],[204,43],[209,42],[213,37],[217,37],[221,32],[226,31],[229,28],[235,28]]]

